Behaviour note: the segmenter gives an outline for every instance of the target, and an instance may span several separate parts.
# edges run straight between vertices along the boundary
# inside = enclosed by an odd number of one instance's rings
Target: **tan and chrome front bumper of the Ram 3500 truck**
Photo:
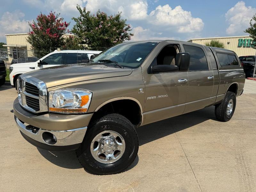
[[[18,99],[14,100],[13,112],[15,122],[22,136],[36,147],[49,151],[77,149],[84,139],[87,126],[92,117],[92,114],[53,114],[51,116],[47,113],[38,115],[22,108]],[[48,136],[54,138],[53,143],[49,142]]]

